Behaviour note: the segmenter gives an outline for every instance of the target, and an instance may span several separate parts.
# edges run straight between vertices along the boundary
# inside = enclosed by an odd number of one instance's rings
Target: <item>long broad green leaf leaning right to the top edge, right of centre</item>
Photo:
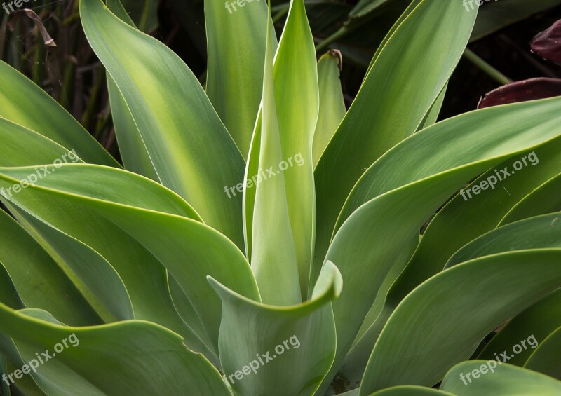
[[[424,0],[381,49],[316,167],[321,199],[312,280],[353,184],[385,151],[417,130],[459,62],[474,22],[475,13],[466,13],[460,2]],[[449,50],[443,53],[442,48]]]

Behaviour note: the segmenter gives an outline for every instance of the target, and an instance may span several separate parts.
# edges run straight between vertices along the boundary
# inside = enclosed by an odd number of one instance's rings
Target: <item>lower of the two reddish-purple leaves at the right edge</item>
[[[492,90],[479,101],[478,109],[554,96],[561,96],[560,78],[530,78]]]

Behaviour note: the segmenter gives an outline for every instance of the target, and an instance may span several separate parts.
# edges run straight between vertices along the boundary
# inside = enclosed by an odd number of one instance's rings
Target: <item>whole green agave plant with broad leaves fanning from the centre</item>
[[[559,394],[561,99],[435,123],[476,13],[414,0],[347,111],[303,0],[236,4],[203,89],[81,0],[124,169],[0,64],[3,393]]]

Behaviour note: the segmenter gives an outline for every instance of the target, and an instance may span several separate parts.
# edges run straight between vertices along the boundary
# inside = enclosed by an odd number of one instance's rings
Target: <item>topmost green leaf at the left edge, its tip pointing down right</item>
[[[69,150],[76,150],[84,161],[119,167],[119,163],[60,104],[2,61],[0,87],[0,117],[34,130]],[[35,152],[29,149],[29,153]]]

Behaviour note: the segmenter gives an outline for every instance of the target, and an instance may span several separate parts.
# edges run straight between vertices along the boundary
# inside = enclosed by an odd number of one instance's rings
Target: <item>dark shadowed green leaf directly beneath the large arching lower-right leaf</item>
[[[557,290],[516,315],[487,343],[478,359],[494,359],[496,355],[512,350],[520,341],[529,339],[527,341],[529,348],[525,348],[508,360],[509,364],[522,367],[536,348],[533,344],[543,343],[546,337],[560,326],[561,290]],[[535,341],[530,342],[533,340]]]

